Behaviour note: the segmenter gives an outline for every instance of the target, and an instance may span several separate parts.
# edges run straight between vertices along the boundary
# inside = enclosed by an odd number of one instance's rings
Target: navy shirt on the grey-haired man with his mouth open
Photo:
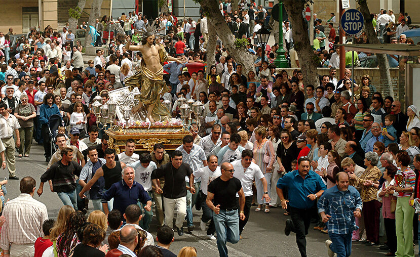
[[[124,180],[116,182],[102,194],[102,203],[114,198],[113,209],[118,209],[121,213],[126,212],[126,208],[130,204],[137,204],[140,201],[146,204],[151,198],[144,190],[140,183],[134,181],[131,188],[127,186]]]

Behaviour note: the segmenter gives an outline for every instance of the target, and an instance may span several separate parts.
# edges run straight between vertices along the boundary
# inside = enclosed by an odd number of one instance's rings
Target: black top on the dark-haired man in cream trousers
[[[172,162],[168,162],[155,169],[150,178],[159,179],[165,177],[165,186],[163,187],[163,196],[170,199],[186,196],[185,176],[193,174],[193,169],[184,162],[179,168],[175,168]]]

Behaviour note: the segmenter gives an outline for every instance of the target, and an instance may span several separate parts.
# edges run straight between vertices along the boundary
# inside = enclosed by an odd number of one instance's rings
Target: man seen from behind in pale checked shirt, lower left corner
[[[35,252],[35,240],[43,236],[42,225],[48,220],[45,204],[33,199],[36,182],[31,177],[20,181],[20,195],[5,204],[0,247],[3,256],[30,257]]]

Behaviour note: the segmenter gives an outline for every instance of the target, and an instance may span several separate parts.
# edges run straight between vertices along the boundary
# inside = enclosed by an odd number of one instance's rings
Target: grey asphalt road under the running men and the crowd
[[[33,177],[38,187],[40,177],[47,166],[43,153],[42,146],[34,144],[31,147],[29,158],[16,157],[16,175],[20,178],[25,176]],[[7,170],[2,170],[0,174],[8,177]],[[9,181],[7,189],[8,195],[6,199],[17,197],[20,194],[19,181]],[[48,186],[44,187],[44,193],[41,197],[35,193],[34,198],[47,206],[50,218],[57,217],[62,203],[57,194],[52,193]],[[93,206],[90,204],[90,210],[92,209]],[[184,233],[183,236],[178,236],[175,232],[175,241],[172,243],[170,250],[177,254],[183,246],[194,246],[198,250],[199,256],[217,256],[216,241],[208,240],[205,231],[200,230],[201,211],[193,209],[196,229],[192,234]],[[255,207],[252,207],[250,219],[242,233],[244,239],[237,244],[227,244],[229,255],[241,257],[300,256],[294,233],[292,232],[289,236],[284,234],[287,216],[283,216],[283,210],[281,208],[272,208],[270,213],[256,212],[254,210]],[[154,236],[156,236],[157,231],[156,225],[157,221],[153,218],[149,232]],[[184,223],[184,226],[186,226],[186,223]],[[184,230],[186,231],[186,227],[184,227]],[[308,256],[328,256],[325,246],[326,239],[328,239],[328,235],[311,228],[307,236]],[[381,238],[381,241],[384,241],[384,239]],[[415,252],[418,252],[417,249],[417,246],[415,246]],[[361,243],[353,243],[352,251],[352,256],[384,256],[384,253],[386,253],[383,250],[379,250],[378,246],[366,246]]]

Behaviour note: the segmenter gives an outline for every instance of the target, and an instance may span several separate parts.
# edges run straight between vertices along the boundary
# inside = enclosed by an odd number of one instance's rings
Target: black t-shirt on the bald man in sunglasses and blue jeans
[[[241,181],[235,177],[228,181],[223,181],[218,177],[210,182],[207,191],[214,194],[214,206],[220,204],[220,209],[237,209],[236,193],[241,188]]]

